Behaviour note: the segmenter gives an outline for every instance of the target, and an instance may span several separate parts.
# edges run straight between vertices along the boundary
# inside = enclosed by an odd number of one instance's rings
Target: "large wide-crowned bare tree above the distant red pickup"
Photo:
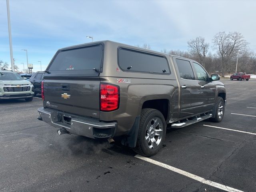
[[[225,32],[217,33],[213,38],[214,48],[218,56],[221,58],[222,76],[228,70],[232,70],[232,61],[236,59],[239,51],[244,51],[248,47],[248,42],[239,32]]]

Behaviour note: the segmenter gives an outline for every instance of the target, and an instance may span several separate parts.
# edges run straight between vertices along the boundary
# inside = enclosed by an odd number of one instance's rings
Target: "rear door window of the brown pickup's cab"
[[[176,63],[180,73],[180,78],[195,80],[194,73],[189,61],[183,59],[176,59]]]

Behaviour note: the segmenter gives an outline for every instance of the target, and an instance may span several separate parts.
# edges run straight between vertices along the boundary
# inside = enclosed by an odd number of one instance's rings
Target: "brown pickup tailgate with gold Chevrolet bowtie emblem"
[[[100,78],[45,80],[44,100],[48,108],[81,116],[100,118]]]

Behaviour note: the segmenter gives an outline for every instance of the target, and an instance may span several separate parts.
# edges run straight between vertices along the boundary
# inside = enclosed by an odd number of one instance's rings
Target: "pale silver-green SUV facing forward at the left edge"
[[[18,73],[0,70],[0,99],[25,99],[32,101],[34,86]]]

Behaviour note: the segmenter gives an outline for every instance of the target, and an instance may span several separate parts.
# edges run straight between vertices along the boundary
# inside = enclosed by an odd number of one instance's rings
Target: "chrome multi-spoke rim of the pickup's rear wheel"
[[[160,144],[163,136],[163,123],[160,118],[152,118],[147,125],[145,140],[148,148],[155,149]]]

